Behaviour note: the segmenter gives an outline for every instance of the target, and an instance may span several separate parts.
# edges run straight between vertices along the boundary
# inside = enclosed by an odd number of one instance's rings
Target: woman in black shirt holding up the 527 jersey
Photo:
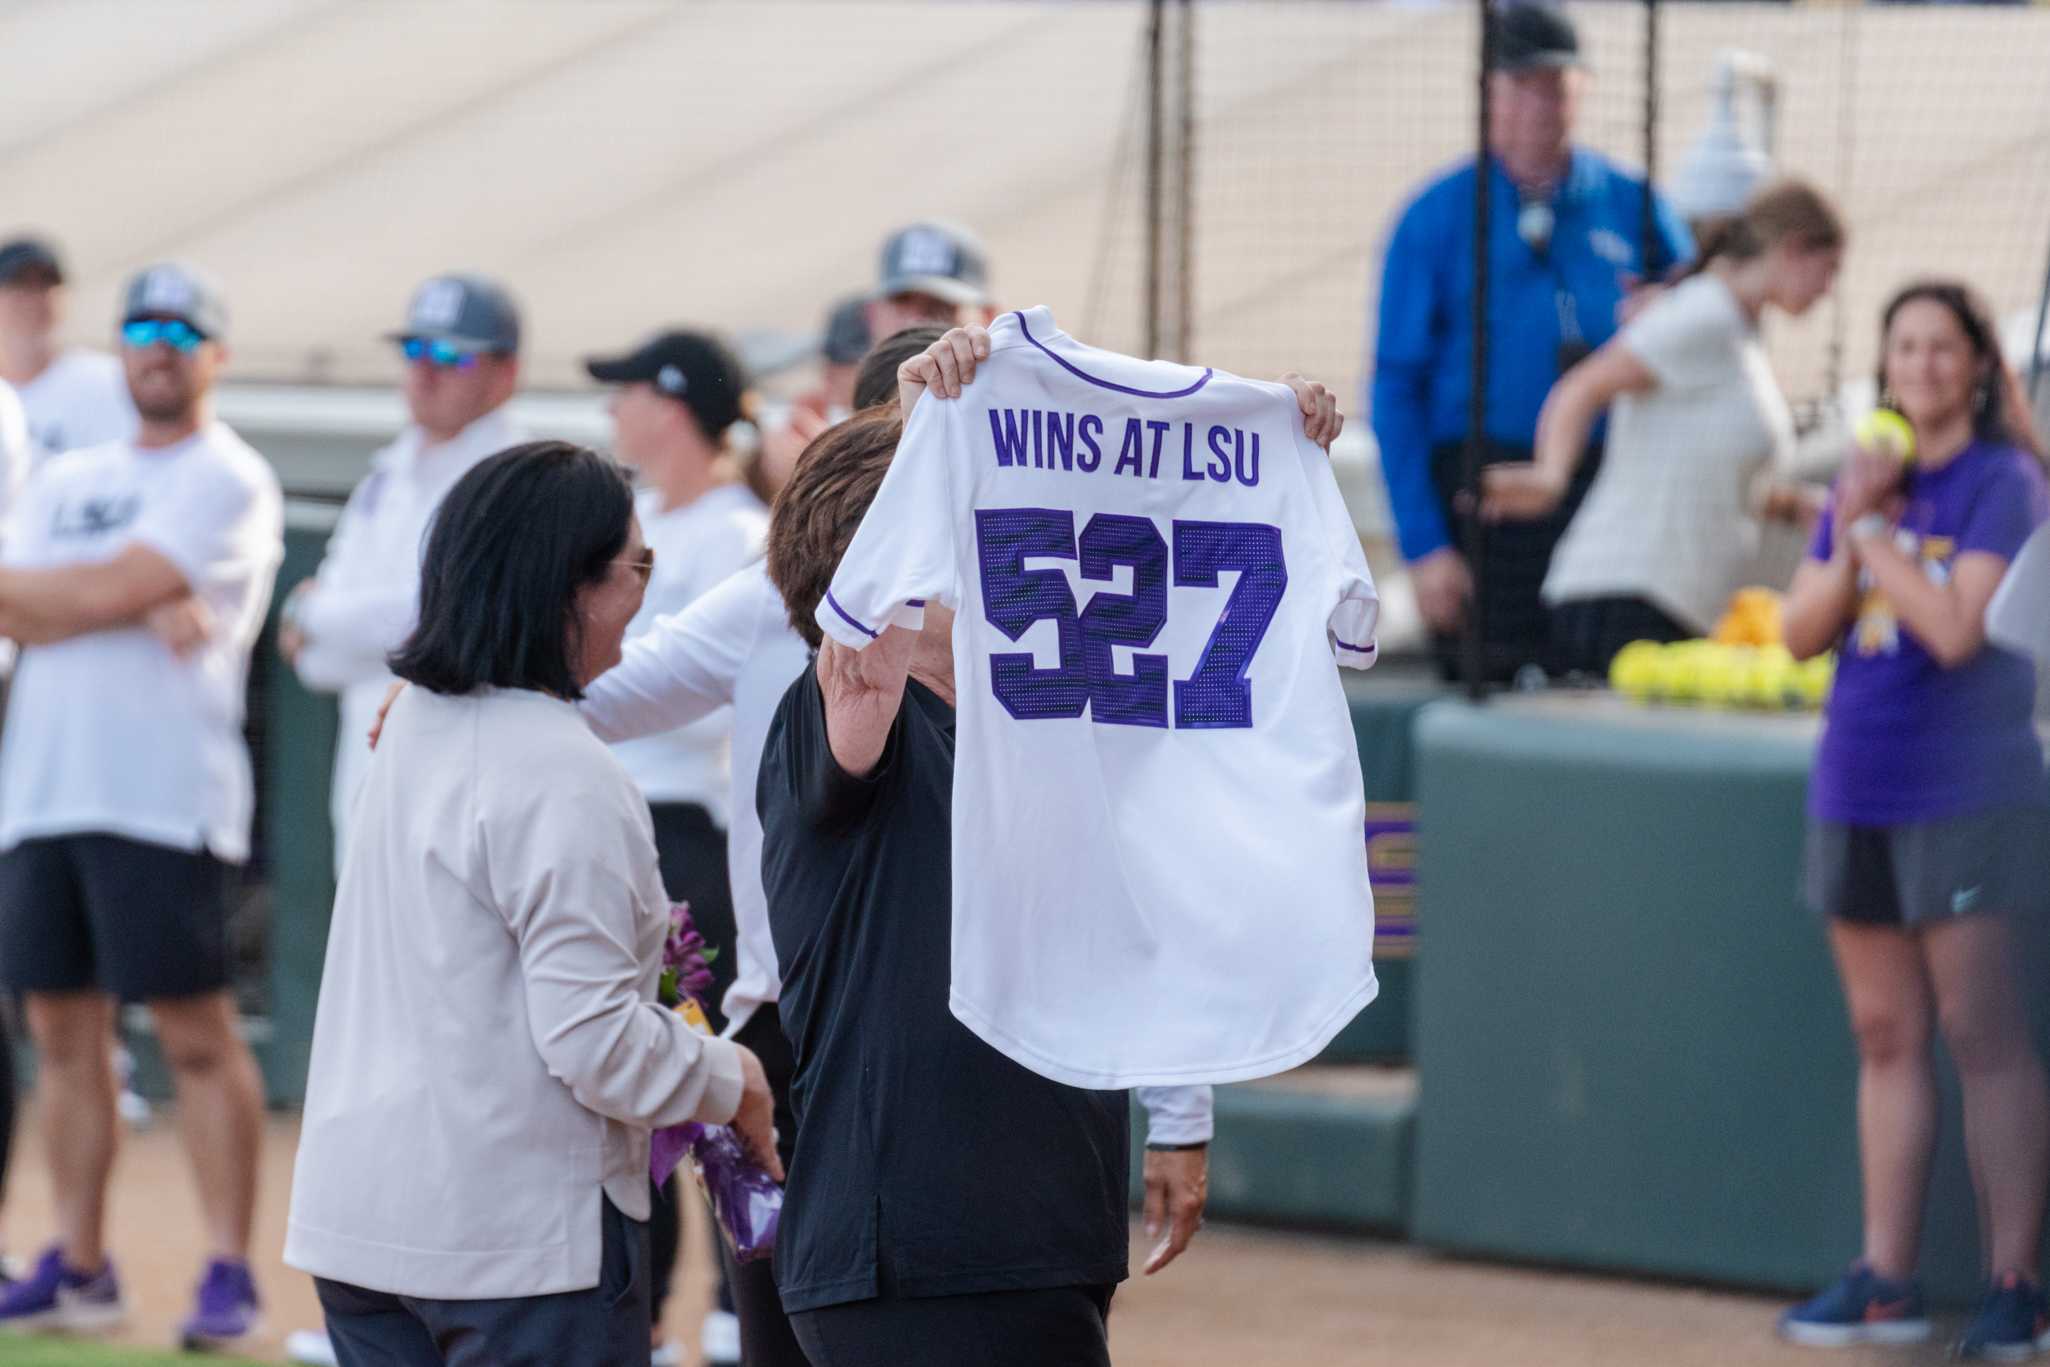
[[[769,572],[799,631],[896,449],[822,437]],[[777,1285],[814,1367],[1109,1363],[1125,1277],[1125,1094],[1050,1082],[947,1010],[953,654],[925,629],[824,644],[763,750],[763,885],[797,1148]]]

